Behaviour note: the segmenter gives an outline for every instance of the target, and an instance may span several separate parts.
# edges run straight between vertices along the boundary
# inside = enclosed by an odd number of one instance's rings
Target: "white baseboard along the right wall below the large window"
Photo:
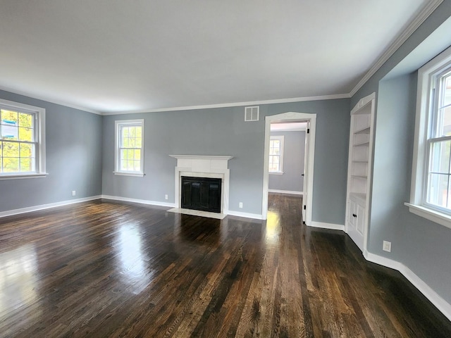
[[[406,265],[393,261],[390,258],[385,258],[382,256],[378,256],[374,253],[366,251],[364,253],[364,257],[366,261],[376,263],[379,265],[386,266],[388,268],[392,268],[394,270],[399,271],[404,277],[407,278],[409,282],[411,282],[416,289],[419,290],[424,296],[433,303],[433,305],[438,308],[438,311],[443,313],[446,318],[451,321],[451,304],[445,301],[437,292],[435,292],[431,287],[426,284],[423,280],[421,280],[418,275],[416,275],[412,270],[407,268]]]

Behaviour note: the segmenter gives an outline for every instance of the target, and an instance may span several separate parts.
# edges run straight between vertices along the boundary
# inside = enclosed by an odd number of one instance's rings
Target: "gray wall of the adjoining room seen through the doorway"
[[[269,189],[303,192],[305,132],[271,132],[283,136],[283,174],[269,174]]]

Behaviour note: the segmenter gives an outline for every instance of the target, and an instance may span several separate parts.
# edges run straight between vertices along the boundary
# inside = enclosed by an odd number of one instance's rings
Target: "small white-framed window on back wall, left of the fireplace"
[[[116,175],[144,176],[144,120],[116,121]]]

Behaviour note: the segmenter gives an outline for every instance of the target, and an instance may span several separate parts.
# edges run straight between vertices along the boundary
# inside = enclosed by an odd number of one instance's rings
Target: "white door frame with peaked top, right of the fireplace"
[[[262,218],[266,220],[268,214],[268,190],[269,190],[269,154],[271,143],[271,124],[274,123],[305,123],[306,145],[304,156],[302,219],[307,225],[311,225],[312,193],[313,193],[313,168],[314,168],[314,146],[316,132],[316,114],[288,112],[278,115],[266,116],[265,118],[265,144],[264,144],[264,179],[262,198]],[[301,180],[301,177],[299,177]]]

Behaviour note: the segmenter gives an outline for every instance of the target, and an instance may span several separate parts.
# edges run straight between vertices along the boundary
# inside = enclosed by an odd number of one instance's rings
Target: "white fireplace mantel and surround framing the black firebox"
[[[175,208],[182,199],[182,176],[221,178],[221,214],[228,214],[230,169],[228,161],[233,156],[169,155],[177,158],[175,166]]]

